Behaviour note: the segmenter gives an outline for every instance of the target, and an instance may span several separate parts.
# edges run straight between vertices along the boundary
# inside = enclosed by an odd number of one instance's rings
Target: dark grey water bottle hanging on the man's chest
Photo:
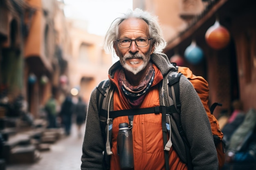
[[[133,170],[133,140],[128,123],[119,124],[117,155],[119,155],[121,170]]]

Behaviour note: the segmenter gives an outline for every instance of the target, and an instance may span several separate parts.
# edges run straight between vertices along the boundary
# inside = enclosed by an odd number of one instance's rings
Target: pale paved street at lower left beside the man
[[[84,131],[84,126],[82,129]],[[49,151],[40,152],[37,163],[7,165],[6,170],[80,170],[82,143],[83,136],[78,138],[73,125],[71,135],[52,144]]]

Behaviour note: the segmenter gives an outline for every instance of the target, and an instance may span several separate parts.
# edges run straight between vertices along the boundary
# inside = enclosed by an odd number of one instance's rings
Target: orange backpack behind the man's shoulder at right
[[[202,104],[204,105],[204,109],[208,115],[211,124],[211,132],[213,134],[214,144],[218,153],[219,169],[221,169],[225,163],[225,143],[222,141],[223,133],[220,130],[218,120],[212,114],[217,104],[215,103],[212,105],[211,111],[209,109],[208,82],[201,76],[193,75],[192,71],[187,67],[178,66],[177,68],[178,73],[182,73],[192,83],[195,91],[198,93],[198,96],[202,101]]]

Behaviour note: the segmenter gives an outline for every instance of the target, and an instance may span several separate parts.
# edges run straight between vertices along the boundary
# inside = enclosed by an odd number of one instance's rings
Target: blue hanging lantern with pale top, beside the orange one
[[[185,59],[191,64],[198,64],[204,57],[204,53],[202,49],[196,45],[195,41],[192,41],[191,44],[186,48],[184,56]]]

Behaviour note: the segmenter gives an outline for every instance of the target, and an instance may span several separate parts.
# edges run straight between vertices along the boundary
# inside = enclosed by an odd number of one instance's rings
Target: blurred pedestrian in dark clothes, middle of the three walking
[[[72,97],[67,95],[64,102],[61,104],[60,117],[62,119],[62,124],[64,125],[65,135],[70,135],[71,125],[72,125],[72,113],[74,111],[74,104],[72,102]]]

